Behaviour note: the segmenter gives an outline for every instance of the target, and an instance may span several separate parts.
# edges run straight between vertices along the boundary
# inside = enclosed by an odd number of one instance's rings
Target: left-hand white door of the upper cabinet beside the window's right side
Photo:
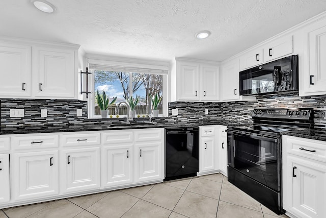
[[[178,100],[199,101],[199,64],[177,63]]]

